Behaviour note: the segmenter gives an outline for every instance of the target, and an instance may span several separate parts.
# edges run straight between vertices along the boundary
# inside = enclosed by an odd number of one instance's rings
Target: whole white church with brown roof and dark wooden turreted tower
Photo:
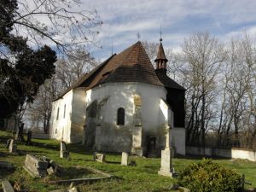
[[[105,152],[159,156],[171,129],[185,155],[185,89],[166,75],[160,38],[155,69],[143,44],[110,56],[52,103],[50,137]]]

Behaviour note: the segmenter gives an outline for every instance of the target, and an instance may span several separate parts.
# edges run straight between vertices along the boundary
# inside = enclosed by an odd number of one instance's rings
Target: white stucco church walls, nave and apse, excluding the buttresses
[[[102,119],[100,132],[102,133],[101,143],[107,148],[102,150],[120,148],[120,151],[129,151],[134,129],[134,96],[140,96],[142,101],[141,119],[144,141],[146,136],[156,136],[157,144],[164,147],[165,142],[161,140],[165,137],[166,123],[173,125],[172,111],[164,102],[166,89],[163,86],[143,83],[102,84],[86,92],[82,88],[70,90],[63,98],[52,104],[50,137],[59,140],[63,138],[67,143],[81,143],[84,137],[86,108],[92,102],[105,101],[100,115]],[[60,108],[59,119],[56,119],[57,108]],[[116,125],[118,108],[125,108],[125,125]],[[55,130],[57,130],[56,133]],[[172,144],[177,149],[177,154],[185,154],[185,130],[175,127],[172,130]]]

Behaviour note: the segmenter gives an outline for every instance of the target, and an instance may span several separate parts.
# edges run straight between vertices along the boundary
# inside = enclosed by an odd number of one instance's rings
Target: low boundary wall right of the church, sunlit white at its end
[[[256,161],[256,151],[245,148],[201,148],[186,146],[186,154]]]

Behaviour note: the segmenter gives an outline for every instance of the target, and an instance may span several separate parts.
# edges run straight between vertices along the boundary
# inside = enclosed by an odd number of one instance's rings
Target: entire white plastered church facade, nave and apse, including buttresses
[[[137,107],[135,98],[139,98],[141,107]],[[87,91],[70,90],[53,102],[50,137],[67,143],[84,142],[102,151],[131,152],[133,147],[141,145],[144,154],[149,148],[148,139],[155,138],[157,149],[165,148],[168,125],[172,127],[173,147],[177,154],[184,155],[185,129],[173,127],[172,110],[165,101],[163,86],[138,82],[101,84]],[[88,110],[90,107],[96,108],[96,115]],[[125,109],[125,125],[117,125],[119,108]],[[136,116],[137,108],[140,114]]]

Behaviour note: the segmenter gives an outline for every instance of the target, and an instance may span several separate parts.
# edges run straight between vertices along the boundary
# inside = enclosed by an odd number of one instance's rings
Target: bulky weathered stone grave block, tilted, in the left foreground
[[[49,162],[40,160],[32,154],[26,154],[25,169],[33,176],[45,177]]]

